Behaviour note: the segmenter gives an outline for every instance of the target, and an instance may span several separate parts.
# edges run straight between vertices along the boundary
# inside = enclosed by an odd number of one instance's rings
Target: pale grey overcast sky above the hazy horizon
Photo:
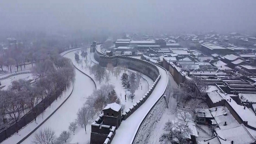
[[[0,0],[0,30],[256,31],[256,0]]]

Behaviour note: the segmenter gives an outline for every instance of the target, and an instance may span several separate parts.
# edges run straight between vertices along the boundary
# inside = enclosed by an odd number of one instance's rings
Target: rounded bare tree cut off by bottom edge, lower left
[[[32,144],[54,144],[56,135],[53,129],[45,128],[34,134]]]

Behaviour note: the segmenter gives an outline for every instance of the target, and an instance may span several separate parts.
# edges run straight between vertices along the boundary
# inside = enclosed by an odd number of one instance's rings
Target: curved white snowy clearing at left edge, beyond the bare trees
[[[32,73],[16,75],[16,76],[10,77],[8,79],[1,80],[2,85],[0,85],[0,87],[5,85],[5,87],[3,87],[2,90],[6,90],[8,88],[8,86],[12,84],[12,82],[14,80],[18,80],[18,79],[30,80],[30,79],[34,79],[34,78],[32,76]]]

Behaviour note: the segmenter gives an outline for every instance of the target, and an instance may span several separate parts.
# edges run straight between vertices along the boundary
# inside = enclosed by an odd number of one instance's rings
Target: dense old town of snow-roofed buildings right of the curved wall
[[[256,38],[239,33],[118,39],[107,55],[126,55],[166,68],[179,85],[193,76],[209,85],[209,108],[198,109],[188,138],[197,144],[256,144]],[[179,117],[175,122],[182,123]],[[209,137],[202,136],[207,130]]]

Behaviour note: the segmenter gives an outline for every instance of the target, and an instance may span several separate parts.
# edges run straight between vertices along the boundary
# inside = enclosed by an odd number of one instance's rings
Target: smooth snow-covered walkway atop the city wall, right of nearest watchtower
[[[112,144],[120,144],[120,142],[122,142],[122,144],[130,144],[143,118],[164,93],[168,84],[168,74],[165,69],[162,69],[161,67],[159,67],[159,69],[161,72],[161,79],[154,91],[140,108],[138,108],[129,118],[122,121],[118,130],[116,130]]]

